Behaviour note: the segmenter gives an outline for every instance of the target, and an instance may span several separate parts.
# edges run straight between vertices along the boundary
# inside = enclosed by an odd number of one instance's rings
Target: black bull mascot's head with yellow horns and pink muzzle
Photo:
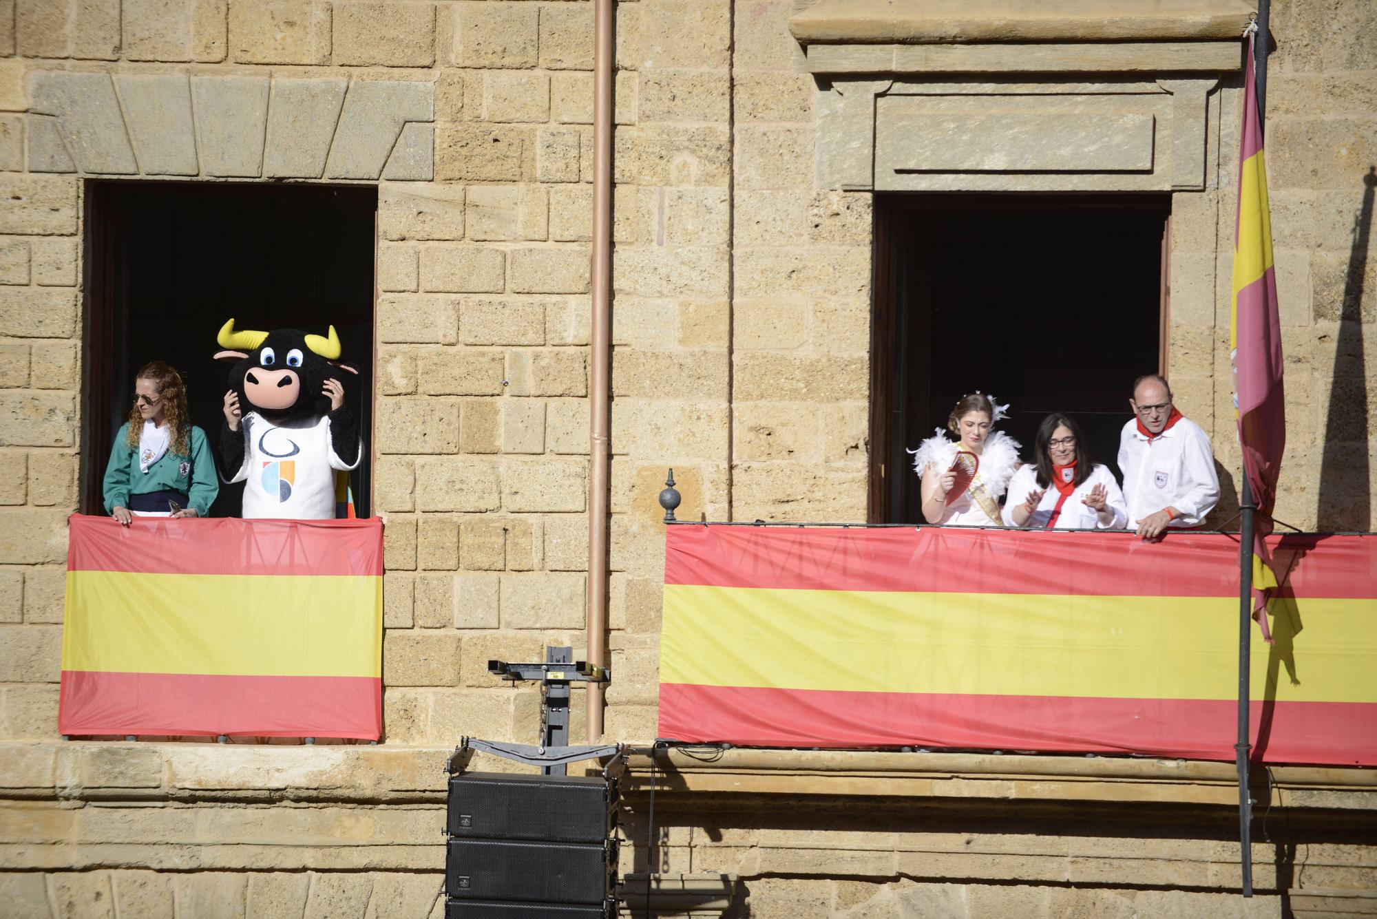
[[[230,388],[238,393],[241,409],[257,411],[264,418],[326,414],[330,399],[324,393],[325,381],[335,378],[343,385],[346,373],[358,373],[340,363],[335,326],[326,336],[299,329],[235,332],[234,319],[230,319],[216,341],[226,351],[215,359],[237,362],[230,369]]]

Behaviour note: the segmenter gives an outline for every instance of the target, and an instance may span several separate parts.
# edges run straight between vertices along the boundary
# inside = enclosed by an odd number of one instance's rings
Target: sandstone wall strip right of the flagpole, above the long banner
[[[1344,23],[1370,26],[1377,11],[1287,3],[1272,15],[1267,164],[1287,440],[1276,516],[1305,528],[1373,530],[1377,47]]]

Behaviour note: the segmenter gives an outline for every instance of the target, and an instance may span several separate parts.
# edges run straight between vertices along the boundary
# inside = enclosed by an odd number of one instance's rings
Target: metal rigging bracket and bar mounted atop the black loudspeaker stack
[[[574,660],[573,648],[545,648],[545,663],[489,660],[487,671],[512,682],[540,681],[540,746],[464,737],[445,764],[446,772],[464,772],[475,750],[538,766],[547,776],[569,775],[569,764],[580,759],[606,758],[609,768],[620,759],[621,744],[569,746],[569,684],[607,682],[607,667]]]

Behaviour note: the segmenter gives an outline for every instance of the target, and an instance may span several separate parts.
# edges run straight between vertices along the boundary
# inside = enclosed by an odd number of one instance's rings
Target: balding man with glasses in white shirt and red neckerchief
[[[1133,420],[1120,435],[1118,461],[1131,526],[1143,539],[1198,527],[1219,504],[1209,437],[1172,406],[1172,388],[1155,373],[1137,378],[1128,403]]]

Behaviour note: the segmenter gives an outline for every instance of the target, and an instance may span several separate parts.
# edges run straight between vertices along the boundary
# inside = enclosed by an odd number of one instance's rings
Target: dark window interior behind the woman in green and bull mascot
[[[230,365],[215,343],[240,329],[339,332],[358,367],[346,398],[365,442],[373,422],[375,187],[92,182],[87,188],[81,510],[102,513],[110,439],[134,373],[162,359],[183,373],[191,421],[218,442]],[[365,444],[368,447],[368,444]],[[351,480],[370,513],[369,450]],[[242,484],[212,516],[238,516]]]

